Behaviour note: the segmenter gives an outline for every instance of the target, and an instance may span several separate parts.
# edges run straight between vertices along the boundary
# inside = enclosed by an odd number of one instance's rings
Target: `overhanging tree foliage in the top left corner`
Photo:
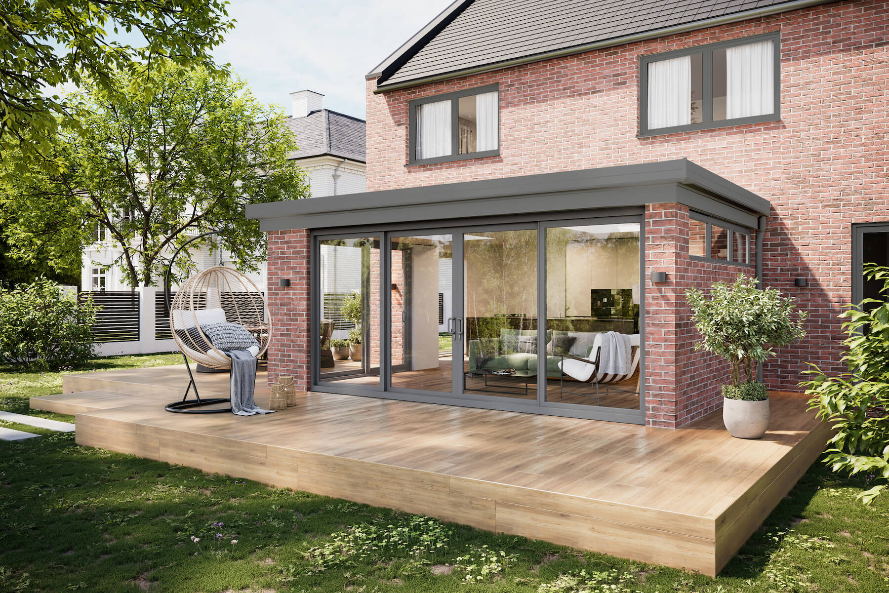
[[[0,156],[21,167],[49,156],[70,106],[46,87],[85,81],[113,92],[115,72],[147,76],[154,60],[212,66],[234,22],[224,0],[11,0],[0,4]],[[132,46],[125,38],[139,38]],[[15,149],[13,149],[15,148]],[[42,166],[52,160],[37,158]]]

